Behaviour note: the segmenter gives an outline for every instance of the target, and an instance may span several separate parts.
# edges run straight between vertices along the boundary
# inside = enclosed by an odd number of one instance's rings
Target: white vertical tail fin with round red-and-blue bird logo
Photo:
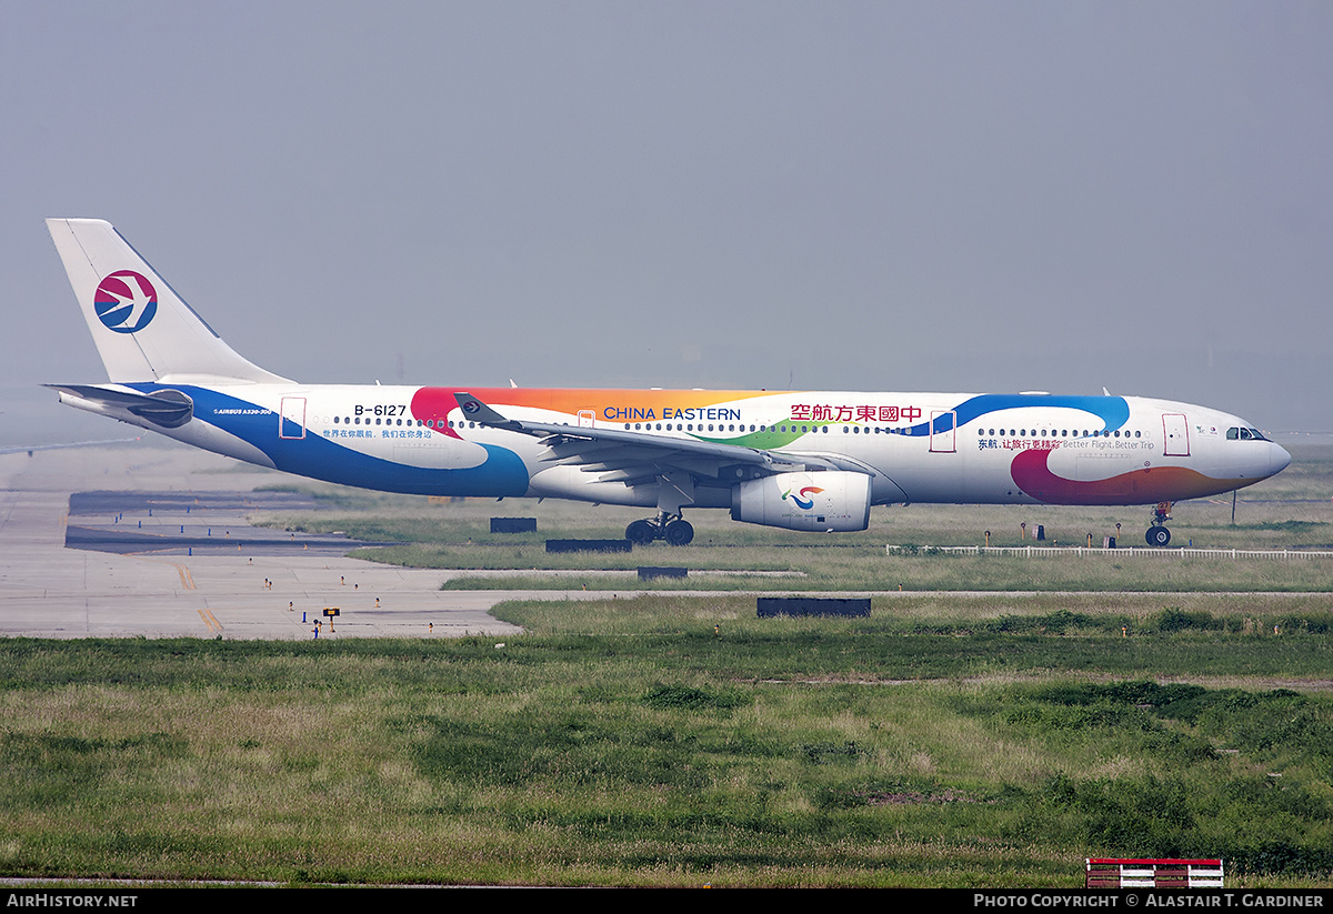
[[[239,356],[100,219],[48,219],[93,342],[115,384],[284,384]]]

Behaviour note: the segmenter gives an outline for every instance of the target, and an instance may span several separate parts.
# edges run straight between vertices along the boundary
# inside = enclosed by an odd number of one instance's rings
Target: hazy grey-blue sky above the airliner
[[[301,381],[1333,430],[1326,0],[0,0],[0,119],[3,444],[124,428],[48,216]]]

